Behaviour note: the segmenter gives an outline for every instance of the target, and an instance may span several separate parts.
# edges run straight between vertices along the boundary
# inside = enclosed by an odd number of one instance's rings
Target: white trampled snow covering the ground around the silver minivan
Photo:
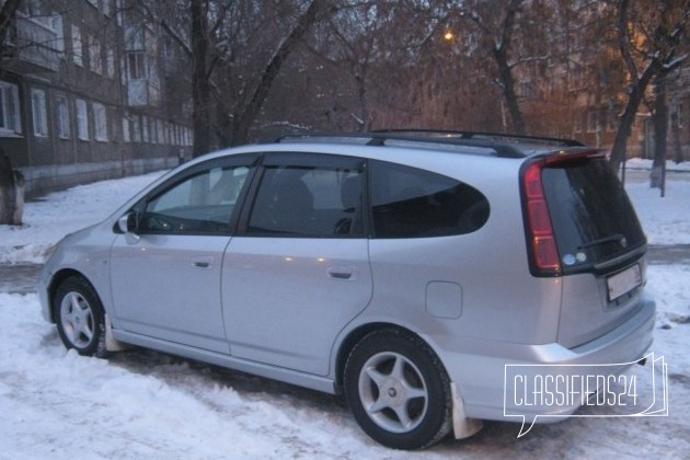
[[[649,241],[687,244],[689,177],[675,176],[659,198],[644,174],[631,173],[628,189]],[[0,262],[41,262],[65,233],[104,218],[158,175],[28,203],[25,227],[0,228]],[[688,265],[648,267],[659,309],[652,350],[668,364],[667,417],[574,417],[537,425],[520,439],[519,424],[493,422],[472,438],[416,453],[368,439],[335,396],[139,348],[108,360],[80,357],[43,320],[35,294],[0,294],[0,459],[687,457],[689,279]],[[648,365],[631,375],[641,393],[653,377],[660,381]]]

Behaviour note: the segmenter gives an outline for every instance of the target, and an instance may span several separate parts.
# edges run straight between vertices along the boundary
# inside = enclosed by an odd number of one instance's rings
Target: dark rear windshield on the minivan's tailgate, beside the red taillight
[[[606,160],[556,163],[543,170],[542,182],[564,274],[645,244],[630,199]]]

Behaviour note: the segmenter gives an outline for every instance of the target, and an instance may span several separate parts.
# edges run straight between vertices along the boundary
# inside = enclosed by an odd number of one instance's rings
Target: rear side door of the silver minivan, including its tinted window
[[[233,356],[329,372],[335,337],[371,297],[364,184],[360,159],[265,156],[251,211],[223,260]]]

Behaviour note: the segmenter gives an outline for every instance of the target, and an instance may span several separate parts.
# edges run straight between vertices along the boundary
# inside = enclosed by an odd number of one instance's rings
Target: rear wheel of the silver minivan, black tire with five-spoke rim
[[[393,329],[366,335],[347,358],[344,387],[357,423],[383,446],[424,449],[450,430],[450,380],[416,335]]]

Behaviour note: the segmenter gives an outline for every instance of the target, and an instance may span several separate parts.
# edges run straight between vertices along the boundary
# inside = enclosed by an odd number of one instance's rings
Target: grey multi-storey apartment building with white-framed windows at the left
[[[0,147],[26,192],[188,158],[191,90],[173,47],[126,0],[25,0],[2,46]]]

